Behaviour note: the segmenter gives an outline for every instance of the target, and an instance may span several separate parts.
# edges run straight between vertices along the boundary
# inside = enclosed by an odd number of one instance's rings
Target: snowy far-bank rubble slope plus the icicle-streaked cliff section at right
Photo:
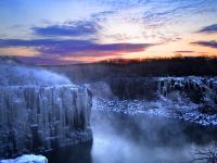
[[[156,100],[111,100],[94,97],[93,109],[179,118],[203,126],[217,126],[216,77],[155,77],[155,80],[158,83]],[[178,89],[175,86],[178,86]],[[193,100],[199,96],[200,101]],[[205,105],[210,106],[214,113],[200,112],[199,109]]]

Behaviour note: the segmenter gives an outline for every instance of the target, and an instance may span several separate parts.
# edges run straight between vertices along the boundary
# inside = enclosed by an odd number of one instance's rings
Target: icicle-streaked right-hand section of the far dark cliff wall
[[[217,78],[205,77],[162,77],[158,78],[158,92],[168,97],[171,92],[184,93],[194,103],[217,104]]]

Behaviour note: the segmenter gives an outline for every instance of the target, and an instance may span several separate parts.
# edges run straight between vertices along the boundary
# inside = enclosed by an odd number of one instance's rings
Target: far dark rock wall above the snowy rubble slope
[[[119,99],[156,100],[159,96],[182,93],[194,103],[217,103],[217,78],[206,77],[141,77],[114,78],[111,89]]]

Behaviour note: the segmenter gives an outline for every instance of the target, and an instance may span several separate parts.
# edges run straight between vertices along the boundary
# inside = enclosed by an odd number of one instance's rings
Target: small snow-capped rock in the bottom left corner
[[[0,163],[48,163],[43,155],[25,154],[16,159],[1,160]]]

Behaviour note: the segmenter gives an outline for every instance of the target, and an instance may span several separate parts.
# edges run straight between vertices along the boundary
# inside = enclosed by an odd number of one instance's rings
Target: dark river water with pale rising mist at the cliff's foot
[[[52,163],[186,163],[217,140],[217,129],[144,115],[92,112],[93,143],[53,152]]]

